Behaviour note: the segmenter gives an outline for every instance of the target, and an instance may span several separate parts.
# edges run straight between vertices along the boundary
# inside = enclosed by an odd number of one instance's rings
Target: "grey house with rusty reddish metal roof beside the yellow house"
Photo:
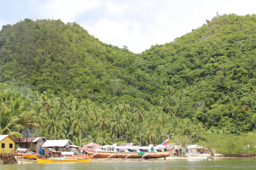
[[[43,146],[45,141],[47,141],[47,139],[44,137],[23,137],[22,139],[17,138],[15,141],[18,143],[20,148],[30,148],[32,141],[31,150],[33,152],[39,153],[40,148]]]

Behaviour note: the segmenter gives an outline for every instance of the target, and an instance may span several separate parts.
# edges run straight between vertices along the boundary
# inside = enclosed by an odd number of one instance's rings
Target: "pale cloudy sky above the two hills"
[[[100,41],[141,53],[174,41],[216,13],[256,14],[255,0],[0,0],[0,28],[25,18],[76,22]]]

